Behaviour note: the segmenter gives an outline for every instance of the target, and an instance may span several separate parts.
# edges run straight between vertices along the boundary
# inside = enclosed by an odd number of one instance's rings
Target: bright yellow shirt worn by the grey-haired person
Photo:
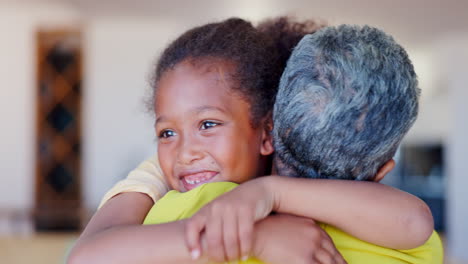
[[[236,186],[235,183],[219,182],[204,184],[185,193],[170,191],[153,206],[144,224],[161,224],[188,218],[206,203]],[[364,242],[329,225],[321,224],[321,227],[332,238],[348,264],[442,264],[443,262],[442,243],[435,231],[429,240],[418,248],[394,250]],[[262,262],[249,259],[242,263]]]

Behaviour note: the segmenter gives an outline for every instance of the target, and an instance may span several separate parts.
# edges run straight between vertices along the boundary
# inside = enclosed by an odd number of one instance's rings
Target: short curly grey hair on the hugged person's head
[[[416,120],[418,97],[408,55],[384,32],[342,25],[305,36],[274,107],[279,173],[372,179]]]

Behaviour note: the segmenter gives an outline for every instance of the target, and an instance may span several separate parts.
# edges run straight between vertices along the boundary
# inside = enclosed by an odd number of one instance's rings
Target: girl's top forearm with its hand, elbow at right
[[[202,230],[207,234],[208,245],[218,243],[219,247],[223,233],[233,232],[227,226],[234,222],[234,240],[245,253],[251,236],[242,230],[251,230],[255,221],[272,211],[309,217],[361,240],[394,249],[418,247],[433,231],[432,214],[423,201],[383,184],[267,176],[241,184],[187,221],[189,250],[200,248]],[[223,229],[209,230],[220,225]],[[225,248],[226,244],[233,243],[225,241]],[[209,247],[208,251],[219,250]]]

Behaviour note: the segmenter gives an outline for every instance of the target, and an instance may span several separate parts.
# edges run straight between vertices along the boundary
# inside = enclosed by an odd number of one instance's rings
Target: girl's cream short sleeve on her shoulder
[[[147,194],[153,201],[164,196],[169,187],[164,179],[157,155],[143,161],[132,170],[127,178],[119,181],[102,198],[99,208],[120,193],[139,192]]]

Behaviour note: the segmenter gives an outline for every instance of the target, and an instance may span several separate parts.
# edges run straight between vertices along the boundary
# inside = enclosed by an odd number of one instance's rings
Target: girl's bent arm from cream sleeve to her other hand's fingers
[[[183,221],[141,225],[152,206],[142,193],[110,199],[86,226],[68,263],[204,263],[203,258],[191,260]]]

